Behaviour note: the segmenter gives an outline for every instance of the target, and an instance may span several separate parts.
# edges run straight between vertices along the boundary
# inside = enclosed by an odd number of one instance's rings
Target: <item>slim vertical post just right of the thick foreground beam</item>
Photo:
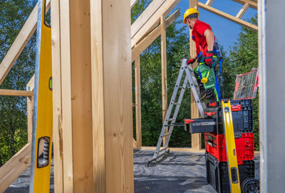
[[[135,59],[135,129],[137,147],[142,147],[142,106],[140,103],[140,56]]]

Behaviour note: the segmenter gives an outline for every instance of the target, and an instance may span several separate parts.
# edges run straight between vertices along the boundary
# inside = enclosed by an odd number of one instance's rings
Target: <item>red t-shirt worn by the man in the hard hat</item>
[[[192,30],[192,39],[196,43],[197,56],[199,55],[199,52],[200,52],[199,45],[202,46],[202,48],[207,46],[206,37],[203,35],[206,29],[209,29],[212,31],[212,28],[211,26],[209,26],[209,24],[206,24],[203,21],[199,21],[199,20],[195,22],[193,30]]]

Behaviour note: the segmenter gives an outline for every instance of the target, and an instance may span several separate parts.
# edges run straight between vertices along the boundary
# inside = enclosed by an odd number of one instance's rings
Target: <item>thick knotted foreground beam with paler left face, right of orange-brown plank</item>
[[[134,192],[130,1],[110,2],[90,1],[94,192]]]

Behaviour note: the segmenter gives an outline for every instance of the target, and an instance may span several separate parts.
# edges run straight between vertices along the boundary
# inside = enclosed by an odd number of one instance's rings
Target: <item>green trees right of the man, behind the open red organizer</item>
[[[252,24],[257,24],[257,16],[250,20]],[[242,27],[239,38],[234,47],[231,48],[229,56],[225,58],[222,70],[222,98],[232,98],[236,75],[252,71],[258,68],[258,37],[257,31],[252,31]],[[226,55],[226,53],[224,53]],[[254,137],[255,147],[259,150],[259,104],[258,95],[253,102],[254,110]]]

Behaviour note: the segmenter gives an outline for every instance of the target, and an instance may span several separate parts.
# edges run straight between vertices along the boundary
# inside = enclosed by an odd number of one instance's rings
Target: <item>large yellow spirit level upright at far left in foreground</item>
[[[38,1],[36,66],[30,192],[49,192],[53,132],[51,27],[46,24],[46,0]]]

